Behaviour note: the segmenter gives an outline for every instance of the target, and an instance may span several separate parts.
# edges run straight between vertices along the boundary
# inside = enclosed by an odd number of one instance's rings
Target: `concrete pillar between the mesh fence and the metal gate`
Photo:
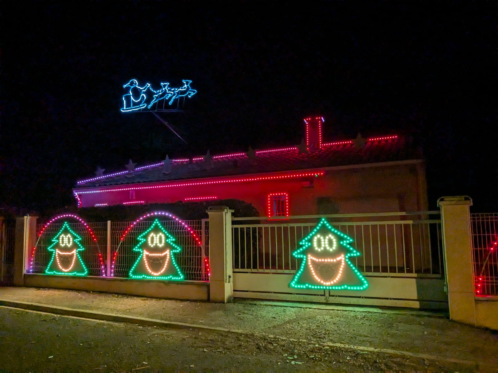
[[[234,297],[232,266],[232,212],[212,206],[209,215],[209,301],[226,303]]]

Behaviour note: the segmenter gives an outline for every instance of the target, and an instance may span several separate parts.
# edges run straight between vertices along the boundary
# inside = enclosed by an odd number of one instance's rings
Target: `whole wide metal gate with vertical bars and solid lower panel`
[[[351,245],[361,255],[351,261],[369,281],[367,290],[289,287],[299,266],[292,252],[322,217],[354,240]],[[285,222],[233,218],[232,224],[235,296],[408,307],[420,307],[421,302],[446,305],[439,211],[294,216]]]

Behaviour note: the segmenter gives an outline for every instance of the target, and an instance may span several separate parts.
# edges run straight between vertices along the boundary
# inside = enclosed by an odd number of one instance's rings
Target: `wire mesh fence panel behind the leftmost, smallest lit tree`
[[[63,222],[52,223],[45,228],[43,234],[38,238],[35,248],[31,249],[32,261],[29,261],[26,272],[45,273],[51,260],[56,255],[56,252],[51,252],[48,248],[54,244],[53,238],[59,233],[63,225]],[[68,225],[74,233],[81,237],[79,243],[84,250],[78,251],[78,254],[88,269],[88,276],[103,276],[106,270],[107,223],[88,223],[88,226],[94,232],[96,241],[83,223],[68,222]],[[40,232],[43,227],[43,224],[37,224],[36,231]]]

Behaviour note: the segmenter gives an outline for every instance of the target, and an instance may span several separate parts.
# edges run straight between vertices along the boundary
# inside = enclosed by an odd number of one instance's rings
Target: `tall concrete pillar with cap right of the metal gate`
[[[476,325],[468,196],[441,197],[443,247],[450,319]]]

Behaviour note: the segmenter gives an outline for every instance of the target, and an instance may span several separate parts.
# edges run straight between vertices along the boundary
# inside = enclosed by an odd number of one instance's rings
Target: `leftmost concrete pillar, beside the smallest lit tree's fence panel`
[[[37,216],[22,216],[15,218],[14,233],[14,276],[15,286],[24,285],[24,271],[29,268],[30,255],[36,244]]]

